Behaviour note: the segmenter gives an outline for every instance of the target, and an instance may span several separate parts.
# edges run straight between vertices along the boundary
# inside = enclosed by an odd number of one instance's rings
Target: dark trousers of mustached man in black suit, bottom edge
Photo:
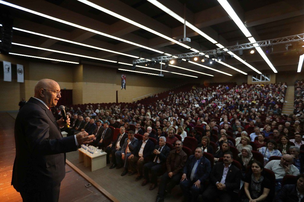
[[[216,198],[219,198],[221,202],[231,201],[231,195],[227,191],[218,190],[216,186],[209,185],[202,194],[203,201],[215,201]]]

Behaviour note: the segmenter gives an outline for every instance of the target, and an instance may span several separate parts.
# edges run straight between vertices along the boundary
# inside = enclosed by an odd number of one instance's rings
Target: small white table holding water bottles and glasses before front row
[[[96,147],[93,146],[94,149]],[[83,148],[78,149],[78,161],[79,163],[84,162],[85,167],[91,166],[91,171],[98,170],[107,166],[106,152],[88,153]]]

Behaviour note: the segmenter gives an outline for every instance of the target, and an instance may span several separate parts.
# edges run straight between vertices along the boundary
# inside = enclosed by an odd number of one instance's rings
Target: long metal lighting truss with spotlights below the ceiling
[[[166,61],[170,59],[185,59],[185,58],[192,58],[192,57],[198,57],[198,56],[204,56],[204,55],[216,55],[218,53],[224,53],[229,51],[238,51],[238,50],[244,50],[244,49],[252,49],[256,47],[264,47],[269,45],[277,45],[282,43],[289,43],[289,42],[295,42],[295,41],[303,41],[304,40],[304,33],[292,35],[292,36],[286,36],[282,38],[277,39],[269,39],[264,41],[258,41],[255,43],[244,43],[239,45],[233,45],[228,46],[224,48],[218,48],[213,50],[207,50],[207,51],[200,51],[200,52],[190,52],[190,53],[183,53],[178,55],[172,55],[172,56],[160,56],[155,58],[148,58],[147,59],[137,59],[133,60],[133,64],[140,64],[140,63],[147,63],[150,61]]]

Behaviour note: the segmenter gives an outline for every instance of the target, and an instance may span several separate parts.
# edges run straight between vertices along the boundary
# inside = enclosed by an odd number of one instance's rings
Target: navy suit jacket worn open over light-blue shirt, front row
[[[191,155],[184,166],[184,173],[186,173],[189,179],[195,162],[196,162],[195,156]],[[194,175],[193,181],[196,182],[197,180],[200,180],[201,183],[204,183],[203,181],[208,179],[210,172],[211,172],[211,163],[207,158],[202,156],[201,160],[199,161],[199,165],[196,168],[196,173]]]

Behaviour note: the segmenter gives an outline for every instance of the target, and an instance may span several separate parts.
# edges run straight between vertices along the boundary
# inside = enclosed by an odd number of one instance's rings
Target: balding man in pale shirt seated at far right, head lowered
[[[284,154],[281,160],[271,160],[264,168],[272,170],[275,173],[275,190],[276,192],[281,189],[281,183],[285,175],[297,176],[300,171],[297,167],[292,165],[293,157],[290,154]]]

